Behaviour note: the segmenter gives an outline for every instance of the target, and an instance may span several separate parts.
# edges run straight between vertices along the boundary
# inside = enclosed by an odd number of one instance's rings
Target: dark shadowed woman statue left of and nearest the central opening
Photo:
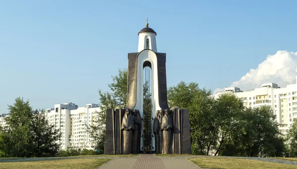
[[[132,153],[137,154],[140,153],[140,142],[139,142],[139,135],[141,134],[141,117],[138,114],[138,110],[133,110],[133,123],[134,123],[134,130],[132,136]]]

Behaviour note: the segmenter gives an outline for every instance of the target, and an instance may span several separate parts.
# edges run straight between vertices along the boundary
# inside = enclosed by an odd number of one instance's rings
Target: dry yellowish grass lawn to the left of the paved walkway
[[[0,169],[95,169],[110,159],[61,159],[32,162],[3,162]]]

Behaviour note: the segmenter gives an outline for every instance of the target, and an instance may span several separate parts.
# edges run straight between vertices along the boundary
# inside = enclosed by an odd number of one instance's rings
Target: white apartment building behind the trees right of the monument
[[[214,94],[215,98],[225,92],[234,92],[243,99],[246,107],[270,105],[274,109],[280,131],[285,134],[297,121],[297,84],[280,88],[277,84],[262,84],[251,91],[241,91],[238,87],[226,87],[225,91]]]

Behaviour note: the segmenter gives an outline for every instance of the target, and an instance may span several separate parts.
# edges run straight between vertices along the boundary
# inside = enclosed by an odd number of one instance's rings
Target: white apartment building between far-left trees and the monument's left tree
[[[93,142],[86,131],[86,125],[93,125],[97,112],[99,112],[98,104],[78,107],[74,103],[64,103],[46,109],[49,124],[60,129],[61,137],[57,143],[60,144],[61,150],[68,147],[92,149]]]

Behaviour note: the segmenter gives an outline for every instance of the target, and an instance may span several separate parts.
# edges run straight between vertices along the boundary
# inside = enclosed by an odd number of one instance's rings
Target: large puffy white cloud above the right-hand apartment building
[[[243,91],[261,87],[261,84],[275,83],[285,87],[286,84],[296,84],[297,52],[279,50],[274,55],[268,55],[266,60],[256,69],[250,69],[239,81],[230,87],[239,87]],[[224,91],[224,88],[216,88],[214,94]]]

